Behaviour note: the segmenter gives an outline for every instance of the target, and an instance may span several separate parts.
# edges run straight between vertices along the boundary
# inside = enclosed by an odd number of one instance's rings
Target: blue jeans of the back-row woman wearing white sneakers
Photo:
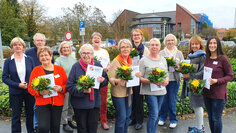
[[[166,86],[167,94],[164,96],[163,106],[160,110],[160,120],[166,121],[169,114],[170,123],[178,123],[176,118],[176,102],[180,83],[170,81]]]

